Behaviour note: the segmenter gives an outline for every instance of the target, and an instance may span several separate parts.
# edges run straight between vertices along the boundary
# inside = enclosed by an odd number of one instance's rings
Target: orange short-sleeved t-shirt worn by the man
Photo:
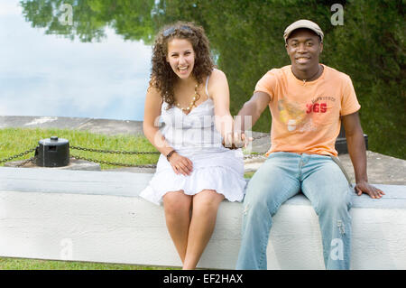
[[[348,75],[323,65],[321,76],[309,82],[297,79],[291,65],[269,70],[255,92],[271,97],[272,152],[316,153],[337,156],[340,116],[361,107]]]

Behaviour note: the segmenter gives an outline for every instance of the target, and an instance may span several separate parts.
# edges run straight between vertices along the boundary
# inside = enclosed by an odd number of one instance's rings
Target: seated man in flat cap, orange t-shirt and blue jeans
[[[266,269],[272,216],[301,190],[318,214],[326,268],[349,269],[352,190],[332,159],[337,156],[335,142],[341,122],[355,169],[355,191],[374,199],[384,194],[368,183],[357,112],[360,105],[351,79],[318,62],[324,37],[318,24],[297,21],[286,28],[283,37],[291,65],[268,71],[238,113],[241,120],[252,116],[254,125],[269,106],[272,146],[266,153],[268,159],[247,185],[236,268]],[[244,134],[244,121],[236,125]],[[331,253],[337,246],[341,253]]]

